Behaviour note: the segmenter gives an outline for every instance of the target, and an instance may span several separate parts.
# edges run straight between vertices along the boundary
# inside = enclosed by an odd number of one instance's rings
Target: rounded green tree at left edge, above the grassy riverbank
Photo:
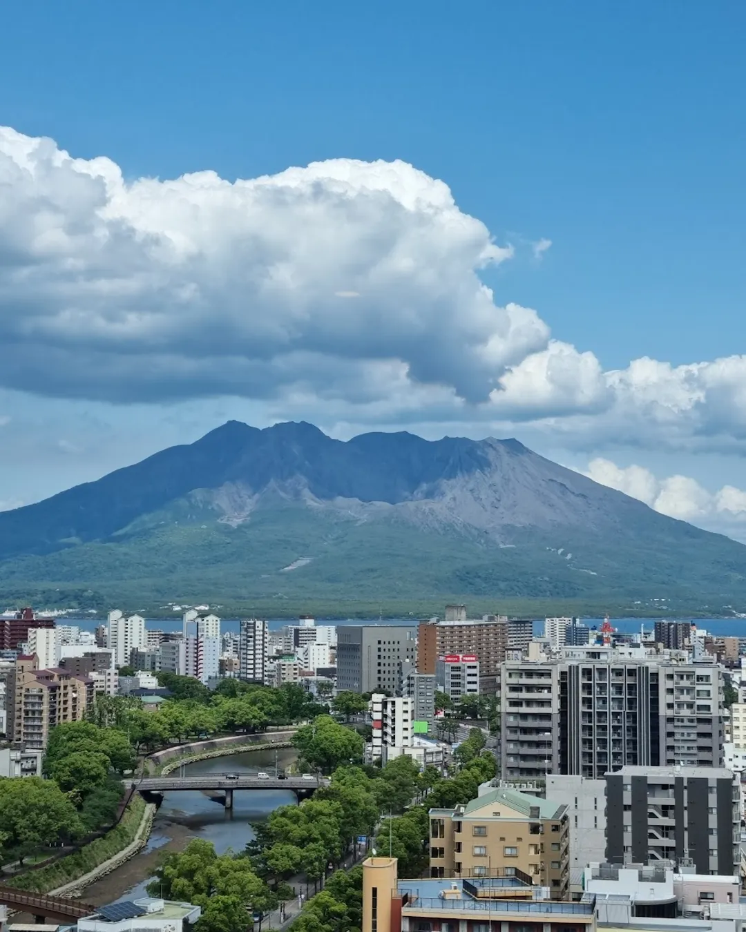
[[[2,854],[24,857],[39,848],[74,840],[83,831],[76,808],[52,780],[28,776],[0,780]]]

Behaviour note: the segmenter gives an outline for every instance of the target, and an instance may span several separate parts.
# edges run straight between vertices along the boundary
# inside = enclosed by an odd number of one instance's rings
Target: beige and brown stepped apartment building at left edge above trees
[[[25,747],[47,747],[49,731],[65,721],[80,721],[93,701],[93,681],[62,667],[38,668],[38,658],[20,656],[7,679],[7,732]]]

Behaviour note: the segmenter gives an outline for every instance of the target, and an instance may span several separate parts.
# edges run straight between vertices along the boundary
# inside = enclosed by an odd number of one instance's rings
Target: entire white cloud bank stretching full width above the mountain
[[[0,388],[746,452],[746,356],[604,371],[495,301],[480,272],[512,255],[402,161],[128,181],[0,128]]]

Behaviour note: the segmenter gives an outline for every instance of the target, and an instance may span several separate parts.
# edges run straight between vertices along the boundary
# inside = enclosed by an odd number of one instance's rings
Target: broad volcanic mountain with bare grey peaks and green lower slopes
[[[514,438],[339,441],[304,421],[263,430],[228,421],[0,514],[0,592],[137,581],[154,597],[185,585],[247,597],[282,586],[297,598],[492,587],[630,599],[660,590],[726,604],[746,600],[746,547]]]

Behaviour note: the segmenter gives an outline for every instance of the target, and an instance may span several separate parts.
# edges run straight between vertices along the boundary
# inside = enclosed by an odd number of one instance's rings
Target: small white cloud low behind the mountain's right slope
[[[658,479],[642,466],[617,466],[601,457],[588,463],[585,474],[602,486],[644,501],[656,512],[746,542],[746,491],[742,489],[724,486],[710,492],[690,476]]]

